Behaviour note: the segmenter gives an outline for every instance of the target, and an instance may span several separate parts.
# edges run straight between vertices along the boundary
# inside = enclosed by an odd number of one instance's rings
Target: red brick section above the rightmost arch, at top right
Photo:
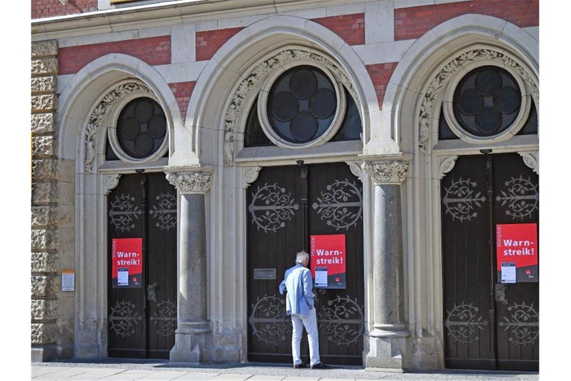
[[[477,0],[395,9],[395,40],[419,38],[457,16],[475,13],[504,19],[519,27],[539,25],[539,0]]]

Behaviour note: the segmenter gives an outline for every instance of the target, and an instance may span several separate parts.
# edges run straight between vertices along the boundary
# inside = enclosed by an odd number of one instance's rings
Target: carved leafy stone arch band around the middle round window
[[[341,69],[339,63],[335,59],[329,57],[327,54],[321,53],[304,46],[287,46],[270,54],[270,57],[264,58],[261,62],[257,63],[247,74],[243,77],[242,81],[232,91],[232,96],[226,111],[224,113],[224,165],[234,165],[235,155],[235,134],[242,133],[244,127],[244,120],[249,111],[248,100],[254,98],[254,94],[259,91],[259,86],[263,79],[267,77],[275,69],[278,69],[286,63],[299,61],[300,65],[303,63],[313,63],[316,66],[327,68],[336,77],[337,81],[341,82],[345,88],[355,99],[355,103],[361,109],[359,95],[353,86],[353,83]]]

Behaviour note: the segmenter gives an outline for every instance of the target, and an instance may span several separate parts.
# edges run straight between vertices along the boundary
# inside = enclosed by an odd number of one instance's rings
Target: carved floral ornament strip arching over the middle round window
[[[240,115],[243,112],[248,112],[248,110],[243,110],[244,101],[248,98],[248,95],[253,89],[256,89],[256,85],[260,83],[266,75],[272,70],[278,69],[284,63],[293,61],[295,59],[313,61],[320,66],[326,67],[330,70],[336,78],[339,78],[341,83],[347,88],[349,93],[355,99],[357,107],[360,107],[359,97],[357,97],[357,92],[355,87],[349,81],[349,77],[345,75],[344,71],[340,69],[336,63],[333,63],[331,59],[324,57],[316,52],[311,52],[304,50],[302,47],[296,47],[295,49],[287,49],[280,51],[280,53],[272,56],[260,62],[250,71],[248,75],[240,82],[236,87],[232,99],[226,109],[224,114],[224,165],[233,166],[234,165],[234,155],[235,155],[235,133],[238,130],[238,121],[240,120]]]

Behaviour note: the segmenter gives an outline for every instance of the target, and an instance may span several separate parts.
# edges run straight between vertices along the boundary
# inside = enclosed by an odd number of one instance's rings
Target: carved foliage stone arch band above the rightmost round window
[[[526,86],[533,100],[539,105],[538,80],[529,69],[516,55],[509,53],[505,49],[500,49],[491,45],[473,45],[463,50],[457,51],[445,61],[440,69],[436,70],[427,81],[421,92],[421,103],[419,108],[419,149],[422,153],[426,153],[428,140],[432,131],[432,121],[437,118],[435,112],[439,110],[436,107],[440,102],[441,94],[446,89],[450,79],[460,73],[464,67],[478,61],[488,61],[497,63],[498,66],[505,66],[517,73]]]

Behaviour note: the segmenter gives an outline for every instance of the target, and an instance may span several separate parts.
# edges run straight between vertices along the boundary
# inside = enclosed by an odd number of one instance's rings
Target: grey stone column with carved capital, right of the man
[[[400,185],[408,163],[401,160],[365,162],[363,170],[375,184],[373,233],[373,298],[375,320],[369,334],[369,368],[402,371],[408,330],[404,323],[403,223]]]

